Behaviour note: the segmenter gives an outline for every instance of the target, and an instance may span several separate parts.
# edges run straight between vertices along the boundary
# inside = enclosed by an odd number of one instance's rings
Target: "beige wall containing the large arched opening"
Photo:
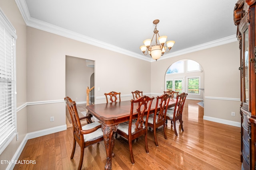
[[[240,122],[238,42],[152,62],[151,92],[162,92],[167,68],[181,59],[194,60],[204,68],[204,117]],[[232,111],[236,113],[236,116],[231,116]]]

